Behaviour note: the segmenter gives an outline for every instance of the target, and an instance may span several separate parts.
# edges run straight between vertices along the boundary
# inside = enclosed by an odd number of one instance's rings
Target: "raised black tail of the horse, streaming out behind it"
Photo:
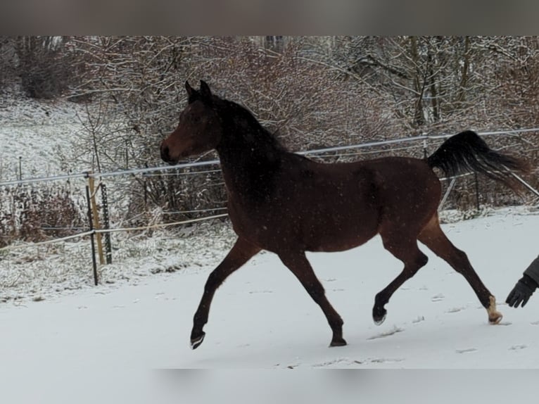
[[[519,158],[490,149],[481,137],[471,130],[455,134],[427,158],[431,168],[440,168],[445,175],[481,172],[482,174],[516,189],[516,179],[511,174],[528,172],[528,164]]]

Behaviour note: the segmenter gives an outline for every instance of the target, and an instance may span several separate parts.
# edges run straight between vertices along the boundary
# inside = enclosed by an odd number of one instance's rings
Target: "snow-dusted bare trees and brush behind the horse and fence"
[[[534,171],[526,181],[539,185],[539,132],[510,132],[539,126],[538,37],[0,37],[0,93],[15,86],[28,99],[84,106],[84,130],[68,156],[93,172],[163,165],[158,144],[177,125],[186,80],[194,87],[205,80],[246,106],[292,151],[508,131],[486,141],[528,159]],[[312,157],[421,158],[440,142]],[[488,179],[479,201],[478,187],[474,177],[462,179],[447,206],[534,201]],[[83,225],[72,187],[38,188],[0,187],[0,244],[41,239],[44,225],[58,227],[57,236]],[[226,203],[218,170],[134,177],[121,194],[117,213],[128,225],[199,217]]]

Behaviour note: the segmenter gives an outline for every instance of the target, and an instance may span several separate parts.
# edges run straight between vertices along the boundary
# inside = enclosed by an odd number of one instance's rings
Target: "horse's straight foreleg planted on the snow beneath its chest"
[[[326,298],[324,286],[316,277],[315,272],[305,257],[304,252],[279,254],[281,261],[299,279],[307,293],[312,297],[326,315],[333,337],[330,346],[343,346],[346,341],[343,339],[343,320]]]

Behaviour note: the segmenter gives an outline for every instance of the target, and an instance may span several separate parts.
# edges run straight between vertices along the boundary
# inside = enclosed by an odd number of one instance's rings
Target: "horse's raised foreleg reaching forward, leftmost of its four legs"
[[[191,331],[191,348],[196,349],[204,340],[205,332],[202,331],[204,324],[208,322],[208,313],[210,313],[210,305],[213,295],[217,288],[227,279],[229,274],[250,260],[253,255],[258,253],[260,248],[253,246],[244,239],[237,239],[236,244],[229,251],[227,256],[222,260],[222,263],[217,265],[215,270],[210,273],[208,280],[204,286],[201,303],[193,319],[193,329]]]

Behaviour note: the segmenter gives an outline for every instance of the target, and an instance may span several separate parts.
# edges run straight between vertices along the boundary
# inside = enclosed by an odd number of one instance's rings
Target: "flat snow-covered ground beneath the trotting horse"
[[[531,393],[537,371],[517,377],[493,370],[539,369],[539,297],[524,309],[503,303],[538,254],[538,228],[534,208],[506,208],[443,225],[497,296],[504,318],[495,326],[464,278],[426,248],[429,263],[393,295],[381,326],[371,318],[374,295],[401,265],[380,239],[343,253],[309,254],[345,322],[348,346],[338,348],[328,347],[331,332],[322,311],[291,272],[276,255],[260,253],[218,289],[205,341],[192,351],[189,334],[203,284],[233,236],[227,229],[215,232],[215,243],[186,244],[190,251],[163,253],[160,246],[155,260],[175,263],[175,272],[51,291],[42,301],[29,295],[0,303],[1,402],[215,402],[224,397],[220,391],[268,403],[325,402],[335,394],[356,402],[357,394],[396,399],[400,388],[416,394],[416,401],[432,402],[428,393],[437,386],[431,391],[436,402],[452,403],[448,394],[457,386],[448,386],[445,377],[466,386],[477,379],[467,389],[480,388],[482,398],[509,400],[517,386],[518,394]],[[468,371],[374,371],[389,369]],[[410,388],[426,380],[424,393]],[[387,389],[389,381],[393,389]],[[509,386],[501,388],[502,382]],[[307,396],[296,386],[308,387]]]

